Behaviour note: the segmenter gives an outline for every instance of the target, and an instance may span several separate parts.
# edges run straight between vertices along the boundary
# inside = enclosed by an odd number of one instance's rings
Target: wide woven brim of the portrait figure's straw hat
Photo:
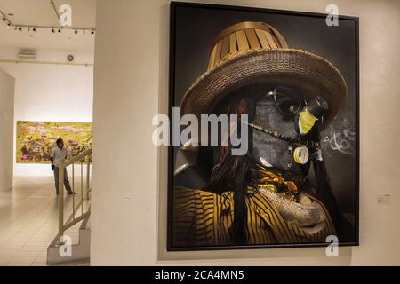
[[[221,99],[252,83],[291,86],[306,99],[323,97],[330,107],[323,129],[340,114],[347,97],[340,71],[320,56],[295,49],[249,50],[201,75],[185,93],[181,113],[212,114]]]

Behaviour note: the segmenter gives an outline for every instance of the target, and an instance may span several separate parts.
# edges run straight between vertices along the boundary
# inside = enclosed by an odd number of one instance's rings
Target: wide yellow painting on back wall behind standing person
[[[91,122],[17,122],[17,162],[50,163],[58,138],[64,140],[68,157],[92,147]]]

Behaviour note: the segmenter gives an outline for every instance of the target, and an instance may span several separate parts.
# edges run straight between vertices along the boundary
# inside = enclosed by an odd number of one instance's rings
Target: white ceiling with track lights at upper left
[[[53,0],[56,7],[69,4],[72,7],[73,28],[95,28],[96,0]],[[50,0],[0,0],[0,10],[6,14],[15,25],[36,25],[59,27]],[[32,36],[29,36],[32,35]],[[49,28],[37,28],[36,33],[7,28],[0,19],[0,49],[2,48],[33,48],[65,51],[94,51],[94,36],[90,32],[85,35],[73,30],[64,29],[61,34],[52,34]]]

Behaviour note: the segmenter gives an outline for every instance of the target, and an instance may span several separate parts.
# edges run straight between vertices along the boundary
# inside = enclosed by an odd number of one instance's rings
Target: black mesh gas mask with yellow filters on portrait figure
[[[285,87],[280,88],[275,95],[270,92],[256,102],[254,122],[250,125],[254,129],[252,156],[265,167],[305,177],[316,142],[308,146],[295,141],[308,141],[310,131],[323,121],[328,104],[317,97],[306,105],[297,92],[287,94],[282,89]]]

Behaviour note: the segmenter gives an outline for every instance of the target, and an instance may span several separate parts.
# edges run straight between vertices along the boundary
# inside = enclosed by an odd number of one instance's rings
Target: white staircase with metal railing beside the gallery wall
[[[92,149],[60,163],[59,233],[47,248],[48,265],[88,265],[90,262],[91,165]],[[70,170],[69,181],[76,193],[66,198],[64,170]],[[64,215],[69,217],[65,220]]]

